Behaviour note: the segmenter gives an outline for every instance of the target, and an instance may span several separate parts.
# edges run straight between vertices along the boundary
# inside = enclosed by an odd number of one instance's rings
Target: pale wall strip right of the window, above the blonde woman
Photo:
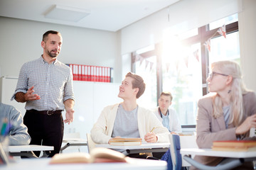
[[[256,1],[243,0],[238,13],[241,67],[245,85],[256,91]]]

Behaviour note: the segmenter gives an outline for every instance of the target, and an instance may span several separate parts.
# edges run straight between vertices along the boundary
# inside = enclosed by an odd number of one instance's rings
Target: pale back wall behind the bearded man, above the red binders
[[[114,82],[122,81],[117,33],[5,17],[0,17],[0,30],[0,77],[18,77],[24,62],[43,54],[43,33],[58,30],[63,35],[63,47],[58,60],[63,63],[113,67]]]

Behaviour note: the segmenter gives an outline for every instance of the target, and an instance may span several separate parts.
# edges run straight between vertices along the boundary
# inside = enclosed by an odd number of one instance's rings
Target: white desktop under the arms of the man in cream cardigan
[[[106,147],[110,149],[153,149],[153,148],[170,147],[170,143],[169,142],[156,142],[156,143],[142,142],[142,145],[132,145],[132,146],[100,144],[100,145],[95,145],[95,147]]]

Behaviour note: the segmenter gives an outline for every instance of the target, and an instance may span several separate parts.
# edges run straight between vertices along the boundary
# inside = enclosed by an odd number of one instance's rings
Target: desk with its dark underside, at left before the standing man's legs
[[[50,151],[54,147],[43,146],[43,145],[17,145],[9,146],[9,154],[13,157],[28,157],[28,158],[37,158],[33,151]]]

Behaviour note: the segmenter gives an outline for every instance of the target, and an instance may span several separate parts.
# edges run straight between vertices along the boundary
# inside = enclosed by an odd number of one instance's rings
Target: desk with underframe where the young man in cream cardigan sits
[[[123,149],[126,152],[123,154],[138,154],[145,152],[166,152],[169,147],[169,142],[156,142],[156,143],[148,143],[142,142],[142,145],[132,145],[132,146],[117,146],[117,145],[109,145],[109,144],[101,144],[95,145],[95,147],[106,147],[109,149]]]

